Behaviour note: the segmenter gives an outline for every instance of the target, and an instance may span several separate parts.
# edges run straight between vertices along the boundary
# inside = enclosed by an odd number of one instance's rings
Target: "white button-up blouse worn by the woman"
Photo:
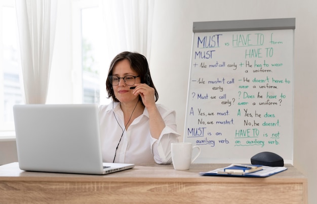
[[[171,164],[171,143],[178,142],[180,136],[176,132],[176,113],[159,104],[156,107],[165,121],[165,128],[158,140],[150,134],[146,108],[142,115],[132,121],[128,130],[123,132],[125,124],[120,103],[113,102],[99,107],[103,162],[113,162],[116,151],[116,163]]]

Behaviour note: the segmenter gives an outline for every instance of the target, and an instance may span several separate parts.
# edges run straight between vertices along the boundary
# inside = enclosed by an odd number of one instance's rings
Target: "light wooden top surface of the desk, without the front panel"
[[[0,181],[18,180],[18,181],[199,181],[199,182],[223,182],[230,180],[233,182],[287,182],[294,179],[293,182],[303,182],[306,177],[297,171],[292,165],[286,165],[287,171],[275,174],[267,178],[232,178],[232,177],[210,177],[200,176],[200,172],[211,171],[228,166],[227,164],[193,164],[187,171],[176,171],[173,165],[144,165],[135,166],[133,169],[116,172],[108,175],[84,175],[84,174],[61,174],[44,172],[26,172],[19,169],[18,162],[0,166]],[[288,179],[287,181],[285,179]]]

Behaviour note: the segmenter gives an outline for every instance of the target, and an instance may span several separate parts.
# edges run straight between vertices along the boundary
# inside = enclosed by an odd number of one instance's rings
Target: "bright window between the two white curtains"
[[[72,5],[73,73],[76,76],[73,90],[75,103],[105,104],[104,29],[99,1],[77,1]]]

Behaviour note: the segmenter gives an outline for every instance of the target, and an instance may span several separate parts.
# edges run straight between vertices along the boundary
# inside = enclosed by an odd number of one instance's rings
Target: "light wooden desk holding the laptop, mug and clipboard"
[[[307,203],[307,178],[293,166],[267,178],[209,177],[225,164],[136,166],[108,175],[24,172],[0,167],[0,203]]]

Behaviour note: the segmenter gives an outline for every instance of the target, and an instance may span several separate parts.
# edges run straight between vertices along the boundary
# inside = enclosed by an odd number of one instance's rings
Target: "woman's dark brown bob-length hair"
[[[108,76],[112,75],[112,71],[113,71],[113,68],[115,67],[115,65],[124,59],[129,60],[131,68],[134,71],[136,71],[138,73],[138,75],[140,76],[141,83],[145,83],[154,89],[155,102],[157,100],[159,100],[159,94],[157,93],[157,91],[154,87],[147,60],[143,55],[141,55],[139,53],[122,52],[122,53],[118,54],[117,56],[115,56],[110,64]],[[112,88],[112,85],[110,84],[108,77],[106,80],[106,87],[107,87],[107,92],[108,92],[108,98],[112,97],[113,101],[119,102],[114,96],[113,88]],[[141,96],[139,96],[139,97],[140,97],[140,101],[142,102]]]

